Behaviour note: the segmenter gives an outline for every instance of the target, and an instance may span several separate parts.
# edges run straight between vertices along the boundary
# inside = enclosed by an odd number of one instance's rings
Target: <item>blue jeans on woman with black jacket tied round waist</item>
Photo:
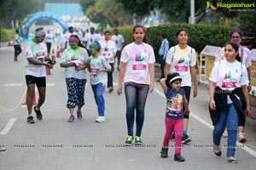
[[[241,102],[240,102],[241,104]],[[228,104],[227,111],[221,111],[218,122],[213,129],[213,144],[219,145],[224,129],[228,130],[227,156],[235,156],[238,115],[234,104]]]

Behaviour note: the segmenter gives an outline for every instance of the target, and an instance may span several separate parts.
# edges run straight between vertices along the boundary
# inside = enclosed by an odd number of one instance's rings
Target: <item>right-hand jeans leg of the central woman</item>
[[[137,84],[137,104],[136,104],[136,136],[140,137],[143,129],[144,110],[148,97],[149,86]]]

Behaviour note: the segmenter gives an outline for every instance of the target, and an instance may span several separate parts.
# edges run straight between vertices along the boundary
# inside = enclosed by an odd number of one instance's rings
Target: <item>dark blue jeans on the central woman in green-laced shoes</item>
[[[136,110],[136,136],[141,136],[148,90],[148,84],[125,82],[126,122],[128,135],[133,136],[133,125]]]

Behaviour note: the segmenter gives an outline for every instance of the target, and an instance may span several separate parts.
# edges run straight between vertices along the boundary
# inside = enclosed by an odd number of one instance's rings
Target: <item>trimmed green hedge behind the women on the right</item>
[[[232,28],[225,26],[210,25],[189,25],[189,24],[165,24],[147,28],[148,43],[154,48],[156,60],[159,60],[160,34],[165,32],[170,47],[177,44],[175,34],[180,28],[186,28],[189,31],[189,46],[195,48],[197,53],[201,53],[206,45],[223,47],[224,42],[230,40],[230,31]],[[132,42],[132,27],[119,27],[119,33],[125,38],[125,45]],[[113,32],[113,28],[109,29]]]

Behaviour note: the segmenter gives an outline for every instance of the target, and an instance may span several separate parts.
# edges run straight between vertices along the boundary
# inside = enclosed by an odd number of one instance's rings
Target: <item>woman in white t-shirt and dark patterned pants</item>
[[[82,119],[82,107],[84,105],[84,88],[86,84],[85,61],[89,59],[87,51],[83,48],[77,35],[71,35],[68,39],[70,47],[61,54],[61,67],[65,68],[67,83],[67,108],[70,112],[68,122],[74,122],[75,107],[78,106],[77,117]]]

